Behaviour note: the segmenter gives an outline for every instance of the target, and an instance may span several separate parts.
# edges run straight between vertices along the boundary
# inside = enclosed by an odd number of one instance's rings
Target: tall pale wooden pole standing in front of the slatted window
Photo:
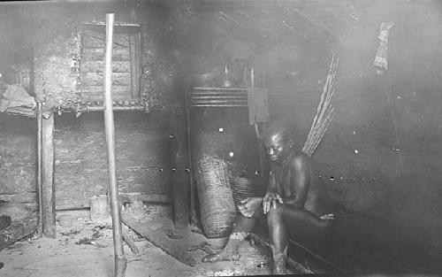
[[[112,110],[112,44],[114,13],[106,14],[106,52],[104,68],[104,125],[108,151],[110,212],[112,213],[113,245],[115,253],[115,277],[126,275],[127,260],[123,251],[121,213],[118,205],[118,185],[115,173],[115,135]]]

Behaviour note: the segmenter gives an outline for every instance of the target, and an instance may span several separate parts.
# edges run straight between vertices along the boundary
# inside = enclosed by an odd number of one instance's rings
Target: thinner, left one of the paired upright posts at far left
[[[37,112],[37,192],[38,192],[38,236],[43,235],[43,202],[42,202],[42,104]]]

